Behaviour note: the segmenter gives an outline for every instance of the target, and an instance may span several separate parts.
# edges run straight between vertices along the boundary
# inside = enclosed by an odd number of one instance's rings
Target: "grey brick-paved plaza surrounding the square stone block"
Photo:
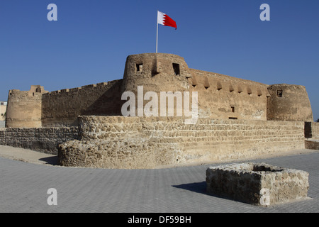
[[[45,157],[42,159],[45,162]],[[220,163],[155,170],[108,170],[40,165],[0,157],[0,212],[319,211],[319,150],[250,161],[309,172],[309,199],[259,207],[207,194],[206,169]],[[47,162],[52,162],[52,158],[47,157]],[[57,205],[47,204],[50,188],[57,190]]]

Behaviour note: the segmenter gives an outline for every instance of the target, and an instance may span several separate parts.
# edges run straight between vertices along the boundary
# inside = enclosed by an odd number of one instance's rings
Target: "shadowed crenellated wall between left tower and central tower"
[[[43,94],[42,126],[77,126],[79,115],[121,114],[121,80]]]

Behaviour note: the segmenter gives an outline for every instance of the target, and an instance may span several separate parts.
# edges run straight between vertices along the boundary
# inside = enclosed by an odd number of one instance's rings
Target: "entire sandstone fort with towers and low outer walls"
[[[123,116],[123,92],[197,92],[198,120]],[[143,106],[147,104],[144,100]],[[176,106],[175,106],[176,107]],[[307,148],[319,123],[306,88],[194,70],[183,57],[129,55],[123,79],[55,92],[11,89],[0,144],[57,154],[77,167],[155,168]]]

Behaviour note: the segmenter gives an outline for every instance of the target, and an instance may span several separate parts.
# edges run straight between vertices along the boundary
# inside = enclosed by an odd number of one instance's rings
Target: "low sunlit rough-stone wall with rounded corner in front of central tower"
[[[60,165],[155,168],[305,148],[304,123],[293,121],[80,116],[79,134],[59,146]]]

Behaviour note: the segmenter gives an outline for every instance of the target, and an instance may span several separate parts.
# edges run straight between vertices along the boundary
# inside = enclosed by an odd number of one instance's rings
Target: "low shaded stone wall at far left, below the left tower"
[[[78,127],[69,128],[1,128],[0,145],[26,148],[57,155],[57,147],[79,138]]]

